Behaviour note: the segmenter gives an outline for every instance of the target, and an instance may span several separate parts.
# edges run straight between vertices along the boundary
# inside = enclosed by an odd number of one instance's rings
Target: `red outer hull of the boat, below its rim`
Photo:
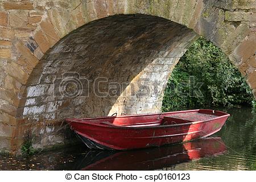
[[[195,110],[193,111],[197,113]],[[173,113],[175,112],[162,113],[162,115],[172,115]],[[145,115],[145,117],[152,117],[152,115],[157,114]],[[184,117],[187,117],[187,115]],[[138,117],[141,116],[138,115]],[[189,119],[194,120],[192,122],[176,125],[145,125],[141,127],[102,125],[95,122],[87,122],[86,120],[77,121],[74,119],[68,119],[67,121],[89,148],[131,150],[134,148],[163,146],[165,144],[181,143],[208,137],[221,129],[229,114],[219,113],[214,118],[195,121],[199,117],[202,117],[202,114],[195,117],[191,112]],[[126,118],[129,119],[129,116],[126,116]]]

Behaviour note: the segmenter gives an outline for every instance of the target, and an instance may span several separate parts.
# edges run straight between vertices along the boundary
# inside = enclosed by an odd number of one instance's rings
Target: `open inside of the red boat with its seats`
[[[100,125],[143,127],[158,125],[178,125],[196,121],[206,121],[226,115],[221,111],[208,109],[176,111],[170,113],[142,114],[142,115],[123,115],[102,118],[75,119],[80,122],[93,122]],[[74,119],[72,120],[74,122]]]

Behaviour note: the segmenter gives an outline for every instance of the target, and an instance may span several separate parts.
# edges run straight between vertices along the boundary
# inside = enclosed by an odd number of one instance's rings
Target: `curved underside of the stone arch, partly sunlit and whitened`
[[[60,142],[64,118],[159,112],[172,68],[196,38],[141,14],[99,19],[65,36],[34,68],[19,106],[18,118],[37,130],[34,147]]]

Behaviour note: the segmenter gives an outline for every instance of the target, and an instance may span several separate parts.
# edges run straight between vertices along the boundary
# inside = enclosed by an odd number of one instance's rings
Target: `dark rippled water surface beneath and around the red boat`
[[[2,170],[256,170],[256,111],[231,114],[221,131],[207,139],[125,152],[89,151],[84,144],[26,158],[0,156]]]

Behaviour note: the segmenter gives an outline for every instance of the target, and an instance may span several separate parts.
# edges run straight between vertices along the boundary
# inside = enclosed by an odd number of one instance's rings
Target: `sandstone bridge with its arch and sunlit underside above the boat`
[[[255,0],[0,0],[0,151],[72,142],[67,117],[151,113],[199,36],[256,95]]]

